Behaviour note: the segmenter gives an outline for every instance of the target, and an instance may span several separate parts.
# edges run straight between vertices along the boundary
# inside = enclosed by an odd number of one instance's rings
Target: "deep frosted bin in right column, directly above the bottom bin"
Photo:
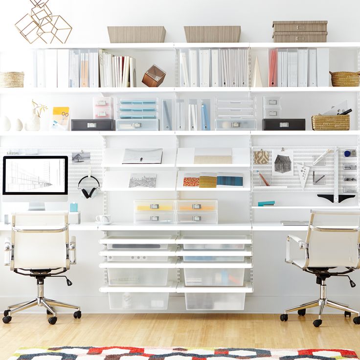
[[[186,286],[243,286],[244,269],[184,269]]]

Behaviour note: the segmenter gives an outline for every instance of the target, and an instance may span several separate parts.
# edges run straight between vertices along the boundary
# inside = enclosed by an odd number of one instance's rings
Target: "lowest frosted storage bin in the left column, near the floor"
[[[110,310],[166,310],[169,293],[109,293]]]

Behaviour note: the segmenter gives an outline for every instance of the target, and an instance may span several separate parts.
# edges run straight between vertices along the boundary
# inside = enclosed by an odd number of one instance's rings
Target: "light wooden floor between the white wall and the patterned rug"
[[[21,346],[189,346],[258,348],[346,348],[360,354],[360,325],[343,315],[136,314],[59,315],[49,325],[46,315],[14,315],[0,324],[0,360]]]

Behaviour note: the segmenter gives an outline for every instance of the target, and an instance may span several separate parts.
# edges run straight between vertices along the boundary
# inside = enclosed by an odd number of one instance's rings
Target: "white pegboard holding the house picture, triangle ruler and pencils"
[[[333,192],[334,191],[334,153],[328,154],[323,160],[313,166],[314,159],[322,155],[326,150],[338,149],[338,183],[339,192],[354,188],[358,189],[358,170],[344,170],[344,165],[357,165],[358,157],[346,158],[344,157],[344,151],[348,149],[355,149],[358,154],[358,147],[298,147],[298,146],[273,146],[273,147],[252,147],[251,148],[251,175],[253,192]],[[254,152],[255,151],[267,151],[269,152],[269,162],[267,164],[255,164],[254,163]],[[272,162],[273,162],[273,151],[279,152],[281,150],[292,150],[293,151],[293,176],[274,176],[272,175]],[[310,167],[308,179],[303,189],[296,169],[296,164],[300,163]],[[319,184],[313,183],[313,171],[315,171],[315,180],[325,175],[325,178],[319,181]],[[261,180],[259,173],[261,173],[266,180],[270,182],[270,186],[265,186]],[[346,178],[355,178],[356,181],[345,181]],[[261,186],[261,188],[258,188]],[[276,188],[278,187],[278,188]]]

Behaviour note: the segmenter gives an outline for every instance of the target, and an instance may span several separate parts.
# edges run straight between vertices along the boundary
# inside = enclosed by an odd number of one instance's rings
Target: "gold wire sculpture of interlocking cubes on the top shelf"
[[[65,44],[72,27],[60,15],[52,15],[46,3],[48,0],[30,0],[33,4],[30,14],[23,16],[16,24],[20,34],[32,44],[41,39],[51,44],[55,39]]]

